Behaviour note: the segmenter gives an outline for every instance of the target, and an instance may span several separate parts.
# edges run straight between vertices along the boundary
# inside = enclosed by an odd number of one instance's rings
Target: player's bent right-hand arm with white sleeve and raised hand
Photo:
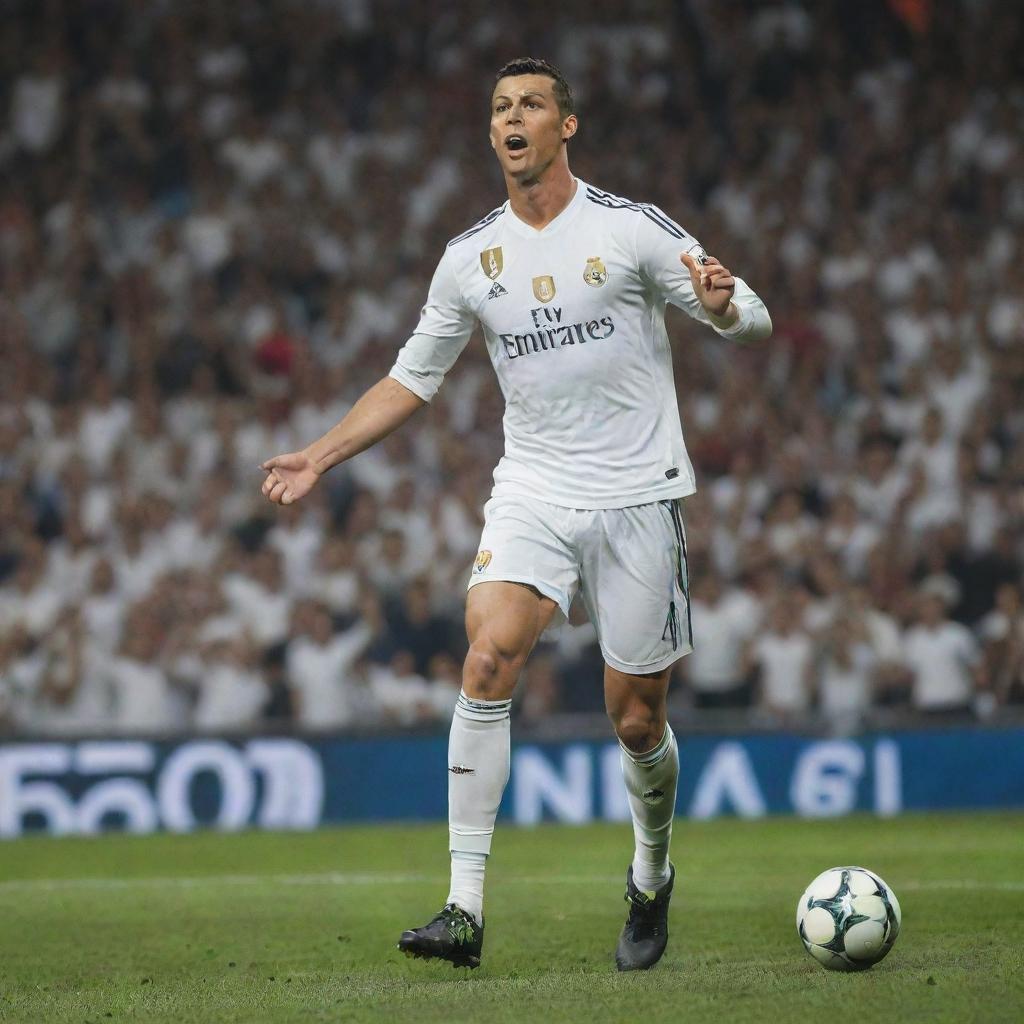
[[[771,336],[771,316],[750,285],[657,207],[638,220],[636,250],[641,273],[668,302],[736,341]]]

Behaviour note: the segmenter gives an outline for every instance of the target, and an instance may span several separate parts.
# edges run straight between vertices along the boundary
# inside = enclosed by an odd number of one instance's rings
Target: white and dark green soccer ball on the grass
[[[899,935],[896,894],[865,867],[829,867],[797,904],[804,948],[829,971],[866,971]]]

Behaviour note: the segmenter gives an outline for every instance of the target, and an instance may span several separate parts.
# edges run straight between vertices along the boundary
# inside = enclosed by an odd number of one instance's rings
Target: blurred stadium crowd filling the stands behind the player
[[[775,324],[741,349],[670,322],[679,714],[1024,701],[1014,7],[0,2],[0,730],[450,717],[502,447],[480,339],[300,505],[258,465],[387,373],[502,198],[486,100],[535,51],[574,83],[573,171]],[[593,628],[524,677],[523,720],[600,709]]]

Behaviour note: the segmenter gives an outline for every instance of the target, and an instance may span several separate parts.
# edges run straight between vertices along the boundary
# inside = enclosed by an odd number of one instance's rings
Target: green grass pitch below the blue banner
[[[479,970],[410,961],[441,825],[0,844],[0,1021],[1024,1021],[1024,815],[678,821],[663,962],[618,975],[628,825],[500,828]],[[794,927],[820,870],[903,907],[871,971]]]

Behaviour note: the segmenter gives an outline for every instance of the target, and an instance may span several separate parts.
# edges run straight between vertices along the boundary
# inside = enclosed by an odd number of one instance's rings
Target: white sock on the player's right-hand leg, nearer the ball
[[[650,892],[669,881],[669,844],[679,778],[675,734],[667,725],[662,741],[646,754],[634,754],[623,746],[622,762],[636,839],[633,884]]]

